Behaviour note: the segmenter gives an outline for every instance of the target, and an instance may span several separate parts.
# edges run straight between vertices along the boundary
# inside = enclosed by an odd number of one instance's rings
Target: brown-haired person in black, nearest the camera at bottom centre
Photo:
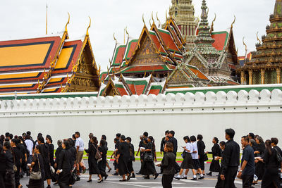
[[[161,164],[158,165],[163,169],[161,184],[164,188],[171,188],[173,176],[176,173],[176,170],[174,169],[176,155],[173,153],[173,144],[171,142],[166,142],[164,145],[164,152],[164,158],[162,159]]]

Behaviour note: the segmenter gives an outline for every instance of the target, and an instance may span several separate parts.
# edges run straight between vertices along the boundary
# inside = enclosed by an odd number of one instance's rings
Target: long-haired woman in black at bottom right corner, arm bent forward
[[[264,151],[264,156],[258,159],[259,161],[264,162],[266,167],[264,176],[262,177],[262,188],[281,187],[278,174],[278,168],[281,167],[281,163],[279,163],[277,160],[278,151],[271,148],[271,144],[271,140],[266,140],[266,150]]]

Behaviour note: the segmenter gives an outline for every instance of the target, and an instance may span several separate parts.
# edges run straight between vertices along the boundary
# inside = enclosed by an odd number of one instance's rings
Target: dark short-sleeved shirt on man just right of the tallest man
[[[254,149],[252,149],[250,145],[245,146],[245,149],[243,150],[241,166],[243,165],[244,161],[247,161],[247,165],[245,166],[242,175],[254,175],[255,155],[254,155]]]

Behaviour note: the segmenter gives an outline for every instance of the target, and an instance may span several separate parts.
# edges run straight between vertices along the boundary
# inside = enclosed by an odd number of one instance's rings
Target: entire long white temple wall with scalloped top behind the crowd
[[[249,132],[264,139],[278,137],[282,143],[282,92],[197,92],[192,94],[150,94],[149,96],[106,96],[0,101],[0,134],[21,134],[30,130],[51,134],[56,140],[80,131],[87,146],[90,132],[106,134],[114,149],[117,132],[130,136],[137,149],[139,135],[147,131],[156,139],[157,150],[165,130],[175,130],[178,151],[185,135],[202,134],[207,149],[212,138],[224,140],[224,130],[232,127],[235,140]],[[281,144],[280,144],[281,145]]]

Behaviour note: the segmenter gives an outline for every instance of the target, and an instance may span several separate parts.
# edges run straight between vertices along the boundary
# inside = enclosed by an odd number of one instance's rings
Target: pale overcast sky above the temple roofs
[[[149,27],[149,19],[158,12],[161,23],[166,20],[166,10],[171,0],[1,0],[0,3],[0,41],[44,37],[46,30],[46,6],[48,4],[48,32],[56,34],[64,30],[68,21],[70,39],[85,35],[89,18],[90,41],[97,65],[102,70],[109,66],[109,58],[113,56],[115,41],[124,40],[124,28],[128,28],[130,37],[138,39],[144,23]],[[201,14],[202,0],[193,0],[195,16]],[[214,19],[214,31],[229,30],[236,16],[233,32],[235,45],[240,56],[245,55],[243,37],[248,51],[255,50],[257,32],[259,38],[265,35],[265,27],[269,24],[269,15],[274,11],[275,0],[207,0],[209,7],[209,24]]]

